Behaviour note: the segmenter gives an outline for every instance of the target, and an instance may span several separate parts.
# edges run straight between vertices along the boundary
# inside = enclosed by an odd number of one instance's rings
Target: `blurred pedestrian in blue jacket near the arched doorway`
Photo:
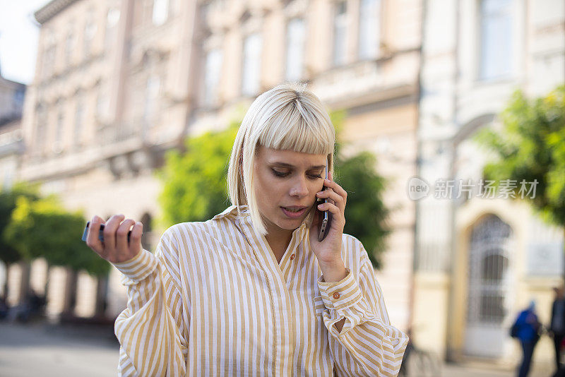
[[[535,345],[540,340],[540,321],[535,312],[535,301],[531,301],[527,309],[518,314],[512,326],[512,334],[520,340],[522,346],[522,362],[518,369],[518,377],[526,377],[530,372]]]

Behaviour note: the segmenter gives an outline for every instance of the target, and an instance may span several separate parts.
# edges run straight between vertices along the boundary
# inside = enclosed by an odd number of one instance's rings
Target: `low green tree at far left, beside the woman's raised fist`
[[[4,240],[26,260],[43,257],[50,265],[107,275],[109,263],[81,241],[84,225],[80,213],[69,213],[53,197],[32,201],[18,196]]]

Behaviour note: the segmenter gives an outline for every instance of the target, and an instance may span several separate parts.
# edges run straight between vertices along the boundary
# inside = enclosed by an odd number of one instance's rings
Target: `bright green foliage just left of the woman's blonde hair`
[[[165,225],[205,221],[230,205],[226,176],[236,133],[237,124],[232,124],[226,131],[187,138],[184,152],[167,154],[158,173]]]

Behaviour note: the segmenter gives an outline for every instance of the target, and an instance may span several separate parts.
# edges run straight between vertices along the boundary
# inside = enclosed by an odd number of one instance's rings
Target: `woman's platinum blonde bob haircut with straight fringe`
[[[278,85],[259,95],[249,107],[232,148],[227,188],[232,204],[248,205],[251,222],[266,235],[254,192],[254,161],[261,146],[327,155],[328,170],[333,172],[335,129],[319,98],[305,85]],[[308,226],[312,213],[306,219]]]

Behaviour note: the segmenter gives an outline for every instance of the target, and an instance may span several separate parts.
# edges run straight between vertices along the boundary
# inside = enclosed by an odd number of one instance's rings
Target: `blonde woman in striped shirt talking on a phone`
[[[170,227],[155,255],[140,222],[111,217],[102,244],[93,218],[88,246],[128,287],[122,375],[397,375],[408,337],[388,321],[367,251],[343,234],[347,193],[324,179],[334,142],[320,100],[280,85],[242,121],[223,213]],[[317,210],[333,216],[323,241]]]

